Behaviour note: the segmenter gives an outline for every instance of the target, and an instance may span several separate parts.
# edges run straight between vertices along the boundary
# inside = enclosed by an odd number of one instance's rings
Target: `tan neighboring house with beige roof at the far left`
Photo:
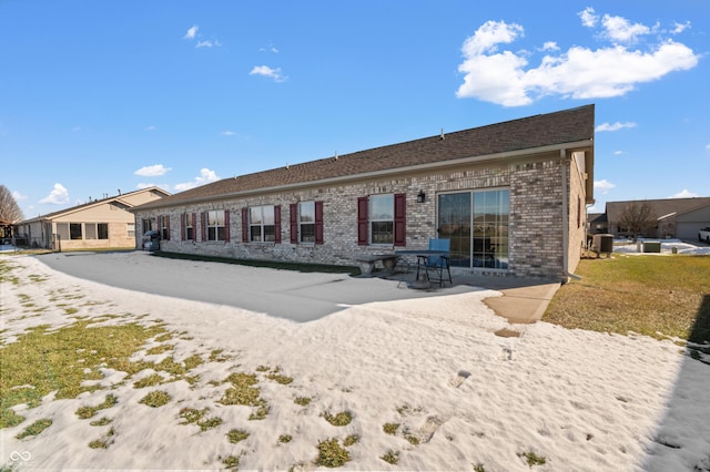
[[[20,222],[14,235],[29,247],[57,250],[134,247],[135,218],[129,209],[166,196],[170,193],[150,187],[94,199]]]

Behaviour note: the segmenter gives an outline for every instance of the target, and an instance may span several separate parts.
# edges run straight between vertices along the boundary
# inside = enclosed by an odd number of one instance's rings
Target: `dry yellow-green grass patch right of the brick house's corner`
[[[566,328],[710,342],[710,257],[582,259],[544,321]]]

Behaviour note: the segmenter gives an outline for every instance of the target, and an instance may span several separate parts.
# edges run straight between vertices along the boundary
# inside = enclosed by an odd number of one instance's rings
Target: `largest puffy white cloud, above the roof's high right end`
[[[592,9],[579,16],[585,25],[599,24]],[[600,35],[611,41],[610,45],[595,50],[575,45],[555,53],[552,42],[547,41],[539,64],[528,66],[529,52],[498,50],[523,38],[523,27],[487,21],[462,47],[464,61],[458,70],[464,73],[464,83],[456,95],[504,106],[527,105],[547,95],[585,100],[620,96],[640,83],[698,64],[698,54],[671,39],[660,39],[646,51],[620,45],[651,31],[642,24],[605,16],[601,28]]]

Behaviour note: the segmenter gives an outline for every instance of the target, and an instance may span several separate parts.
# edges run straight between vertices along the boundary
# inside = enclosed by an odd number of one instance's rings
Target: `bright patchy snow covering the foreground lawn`
[[[181,334],[168,341],[175,358],[196,353],[205,363],[191,372],[200,376],[194,387],[135,389],[150,372],[123,382],[123,373],[105,369],[110,390],[16,407],[27,420],[0,430],[6,468],[216,470],[234,464],[224,462],[232,456],[240,470],[323,470],[315,463],[318,443],[336,439],[349,454],[343,470],[710,470],[710,366],[701,361],[710,356],[692,359],[670,341],[546,322],[509,326],[481,302],[500,295],[490,290],[355,306],[296,324],[80,280],[31,257],[9,260],[13,276],[36,281],[2,283],[6,343],[29,327],[72,321],[50,300],[61,287],[85,296],[72,316],[162,319]],[[48,309],[27,316],[20,294]],[[505,327],[520,337],[494,335]],[[220,359],[209,359],[219,349]],[[155,356],[143,350],[134,360],[149,358]],[[276,369],[293,382],[270,380]],[[250,420],[253,407],[217,401],[233,372],[256,374],[268,406],[264,419]],[[171,401],[140,403],[152,390]],[[118,403],[97,418],[109,424],[78,418],[80,407],[108,393]],[[222,421],[205,431],[181,424],[185,408],[209,409],[207,417]],[[348,424],[326,421],[326,413],[341,412],[351,413]],[[16,438],[40,419],[53,423],[37,437]],[[387,423],[394,434],[385,432]],[[230,442],[232,430],[248,437]],[[345,445],[348,437],[354,443]],[[105,449],[89,447],[98,439]]]

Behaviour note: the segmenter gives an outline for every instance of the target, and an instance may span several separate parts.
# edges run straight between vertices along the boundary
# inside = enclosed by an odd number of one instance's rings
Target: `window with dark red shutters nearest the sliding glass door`
[[[406,195],[371,195],[357,199],[357,244],[406,244]]]

